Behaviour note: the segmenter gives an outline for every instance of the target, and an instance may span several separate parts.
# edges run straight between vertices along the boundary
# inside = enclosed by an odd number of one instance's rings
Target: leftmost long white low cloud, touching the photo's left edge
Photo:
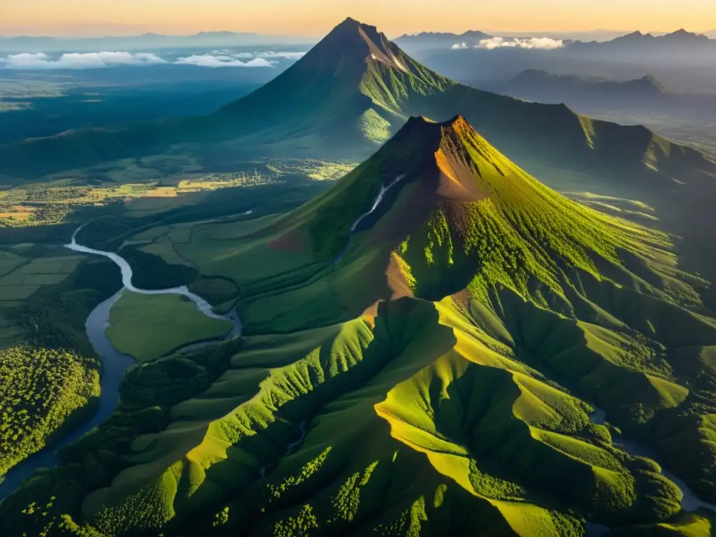
[[[5,69],[100,69],[118,65],[156,65],[166,60],[148,52],[70,52],[52,59],[42,52],[10,54],[0,58],[0,67]]]

